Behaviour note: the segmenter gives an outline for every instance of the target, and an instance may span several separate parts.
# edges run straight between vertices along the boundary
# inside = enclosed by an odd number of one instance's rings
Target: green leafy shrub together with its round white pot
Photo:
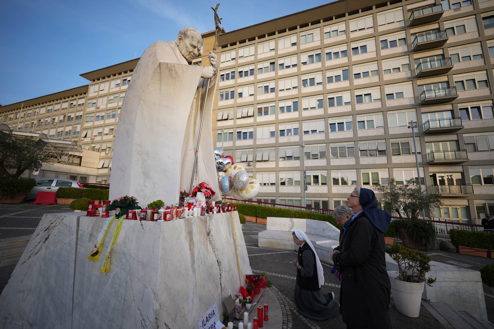
[[[424,252],[397,243],[387,246],[386,253],[398,263],[398,272],[388,272],[396,309],[403,315],[416,318],[420,311],[424,282],[428,286],[436,282],[436,278],[425,276],[431,269],[431,258]]]

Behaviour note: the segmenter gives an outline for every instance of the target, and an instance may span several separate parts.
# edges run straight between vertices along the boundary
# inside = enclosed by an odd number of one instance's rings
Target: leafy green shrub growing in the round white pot
[[[431,270],[431,265],[429,265],[431,258],[426,253],[408,249],[398,243],[387,246],[386,253],[398,263],[400,281],[425,281],[431,287],[436,282],[436,278],[425,278],[425,274]]]

